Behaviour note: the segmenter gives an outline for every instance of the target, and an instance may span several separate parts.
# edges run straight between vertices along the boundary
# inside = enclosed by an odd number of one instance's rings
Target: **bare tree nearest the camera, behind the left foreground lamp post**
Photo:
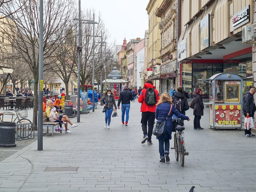
[[[44,1],[44,67],[50,64],[47,63],[49,62],[48,58],[56,56],[55,48],[59,46],[60,42],[64,41],[60,34],[65,33],[64,26],[66,22],[73,18],[76,10],[74,2],[74,0]],[[8,4],[12,3],[11,1]],[[10,15],[7,22],[11,27],[11,33],[6,33],[3,27],[0,27],[0,31],[3,30],[3,33],[8,37],[9,46],[14,47],[19,53],[16,58],[22,58],[33,73],[35,81],[33,122],[36,124],[39,76],[39,6],[37,6],[36,1],[19,0],[17,3],[20,7],[24,6],[24,9],[14,13],[10,12],[9,7],[5,4],[1,6],[4,15]],[[2,48],[2,46],[0,47]]]

